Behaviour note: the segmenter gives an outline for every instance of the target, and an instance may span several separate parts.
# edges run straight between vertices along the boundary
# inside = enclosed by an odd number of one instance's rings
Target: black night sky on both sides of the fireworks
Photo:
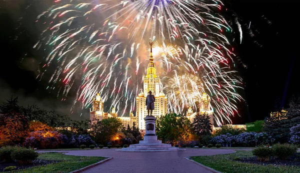
[[[296,0],[226,0],[225,3],[240,18],[243,39],[235,48],[246,65],[239,67],[246,102],[239,105],[242,117],[233,118],[233,123],[263,119],[269,115],[276,98],[286,107],[292,94],[300,94],[297,86],[300,3]],[[21,105],[34,103],[70,114],[72,99],[57,100],[55,94],[47,92],[45,83],[35,79],[40,58],[32,48],[36,34],[26,28],[30,25],[20,25],[19,17],[35,18],[40,11],[24,13],[24,7],[25,0],[0,0],[0,102],[13,95],[19,97]],[[74,112],[71,117],[88,117],[88,110]]]

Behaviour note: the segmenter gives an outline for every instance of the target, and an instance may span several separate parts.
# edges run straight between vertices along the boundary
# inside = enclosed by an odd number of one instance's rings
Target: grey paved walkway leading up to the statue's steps
[[[62,152],[62,151],[59,151]],[[67,155],[113,157],[83,172],[125,172],[125,173],[175,173],[175,172],[212,172],[184,157],[195,155],[215,155],[233,153],[231,149],[186,148],[185,151],[167,152],[124,152],[110,149],[67,150]]]

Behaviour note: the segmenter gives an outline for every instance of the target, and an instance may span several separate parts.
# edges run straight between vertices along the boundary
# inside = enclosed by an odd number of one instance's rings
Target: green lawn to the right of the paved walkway
[[[231,154],[192,156],[191,159],[221,172],[300,172],[299,166],[260,165],[233,160],[250,156],[253,156],[251,151],[238,150]]]

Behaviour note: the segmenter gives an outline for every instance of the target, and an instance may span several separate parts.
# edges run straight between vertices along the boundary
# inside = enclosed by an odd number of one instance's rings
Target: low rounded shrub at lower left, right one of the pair
[[[38,153],[33,149],[27,149],[25,147],[15,147],[11,152],[11,158],[16,160],[20,164],[30,163],[32,160],[36,159]]]

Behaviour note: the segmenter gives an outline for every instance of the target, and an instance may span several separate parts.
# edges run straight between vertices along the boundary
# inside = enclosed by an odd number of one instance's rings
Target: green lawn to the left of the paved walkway
[[[24,172],[24,173],[71,172],[73,170],[77,170],[82,167],[101,161],[105,158],[106,157],[75,156],[75,155],[65,155],[59,152],[45,152],[45,153],[40,153],[38,159],[59,160],[59,162],[50,163],[42,166],[30,167],[30,168],[22,169],[19,171],[13,171],[13,172]]]

